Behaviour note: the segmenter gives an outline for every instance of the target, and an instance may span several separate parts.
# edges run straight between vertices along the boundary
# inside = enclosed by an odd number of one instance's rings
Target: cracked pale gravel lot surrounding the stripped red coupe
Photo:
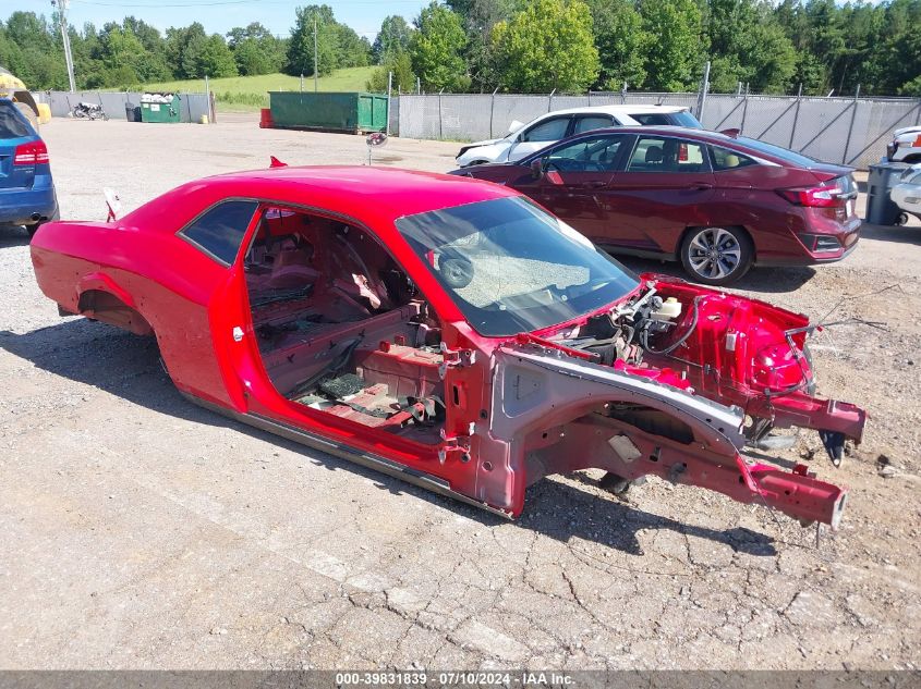
[[[43,135],[63,217],[90,220],[102,186],[131,209],[269,155],[366,157],[360,137],[241,115]],[[456,150],[392,139],[377,161],[445,171]],[[0,231],[0,667],[921,665],[918,223],[741,285],[884,323],[814,341],[820,390],[872,416],[839,469],[813,434],[780,457],[817,450],[819,476],[851,488],[817,547],[763,507],[654,480],[621,502],[595,475],[545,480],[519,522],[499,521],[183,401],[153,341],[58,317],[24,232]]]

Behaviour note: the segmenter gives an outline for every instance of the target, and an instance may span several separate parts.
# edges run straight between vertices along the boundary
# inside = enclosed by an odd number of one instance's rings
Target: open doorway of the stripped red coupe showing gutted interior
[[[243,270],[259,353],[279,394],[440,442],[440,323],[375,237],[339,219],[265,208]]]

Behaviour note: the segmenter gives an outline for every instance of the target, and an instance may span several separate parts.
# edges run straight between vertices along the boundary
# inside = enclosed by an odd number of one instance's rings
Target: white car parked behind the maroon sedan
[[[609,126],[675,125],[702,128],[690,109],[678,106],[591,106],[556,110],[528,124],[514,121],[502,138],[475,142],[460,149],[459,168],[514,162],[569,136]]]

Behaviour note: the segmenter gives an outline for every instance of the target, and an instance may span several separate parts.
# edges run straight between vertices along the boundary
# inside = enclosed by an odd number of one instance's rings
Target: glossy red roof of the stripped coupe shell
[[[307,165],[250,170],[184,184],[145,204],[122,220],[174,232],[210,206],[228,198],[256,198],[306,206],[353,218],[367,225],[403,216],[496,198],[514,189],[456,175],[371,165]],[[162,213],[181,216],[163,223]],[[177,208],[189,212],[175,213]]]

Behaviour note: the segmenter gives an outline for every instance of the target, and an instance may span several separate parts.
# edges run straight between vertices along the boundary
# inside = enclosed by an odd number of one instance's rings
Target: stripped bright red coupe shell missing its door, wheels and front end
[[[846,491],[741,453],[773,427],[840,459],[805,317],[637,278],[521,194],[377,168],[185,184],[32,243],[43,292],[153,334],[183,394],[508,517],[550,473],[649,473],[837,526]]]

